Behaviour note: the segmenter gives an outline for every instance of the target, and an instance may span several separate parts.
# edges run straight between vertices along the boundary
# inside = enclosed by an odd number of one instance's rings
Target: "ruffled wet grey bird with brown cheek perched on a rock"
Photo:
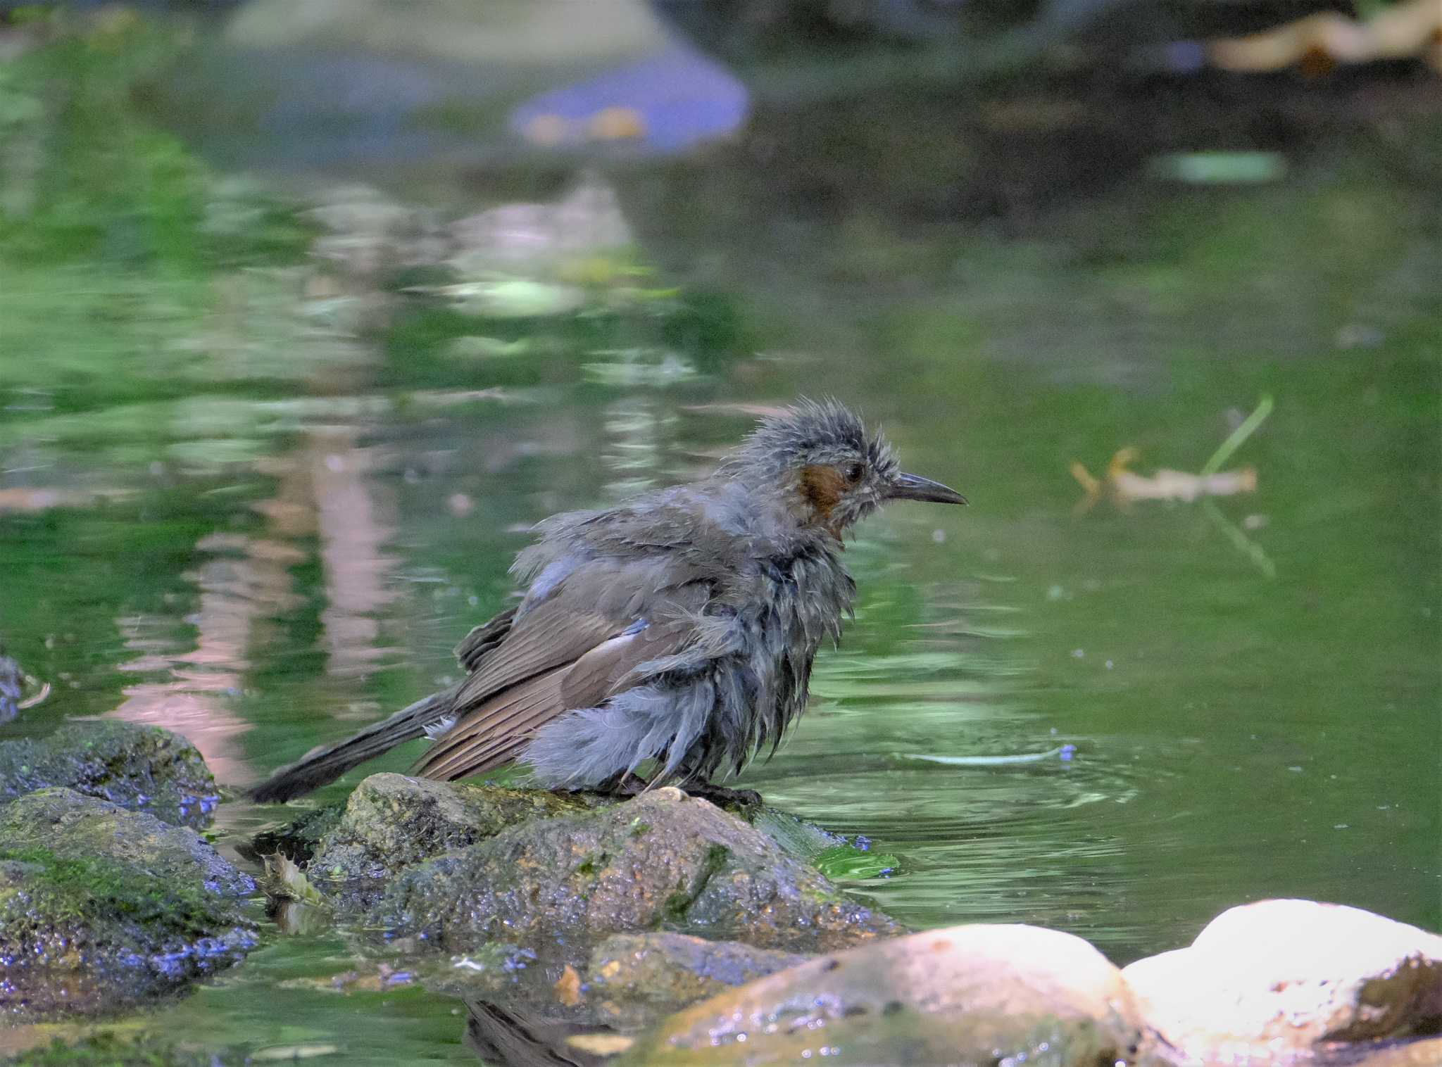
[[[709,477],[545,519],[512,567],[521,603],[457,647],[463,681],[251,796],[298,796],[421,735],[428,779],[523,763],[548,789],[633,789],[652,761],[649,786],[702,792],[774,753],[805,709],[857,594],[842,534],[888,500],[966,503],[903,473],[839,402],[803,401]]]

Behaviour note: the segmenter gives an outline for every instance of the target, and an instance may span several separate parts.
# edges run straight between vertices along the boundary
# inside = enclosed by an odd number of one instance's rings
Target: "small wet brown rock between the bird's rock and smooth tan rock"
[[[609,1021],[649,1022],[808,959],[678,933],[616,934],[591,952],[585,999]]]

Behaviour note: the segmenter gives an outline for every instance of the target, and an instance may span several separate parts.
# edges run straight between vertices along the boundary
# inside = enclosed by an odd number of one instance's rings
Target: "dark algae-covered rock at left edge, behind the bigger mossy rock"
[[[176,826],[205,826],[219,790],[195,745],[157,727],[69,722],[33,741],[0,741],[0,803],[63,786]]]

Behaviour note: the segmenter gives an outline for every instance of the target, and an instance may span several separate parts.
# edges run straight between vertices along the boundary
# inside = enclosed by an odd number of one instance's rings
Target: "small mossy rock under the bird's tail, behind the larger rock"
[[[388,878],[508,826],[588,806],[580,797],[535,789],[372,774],[356,786],[339,822],[320,838],[310,869],[329,881]]]

